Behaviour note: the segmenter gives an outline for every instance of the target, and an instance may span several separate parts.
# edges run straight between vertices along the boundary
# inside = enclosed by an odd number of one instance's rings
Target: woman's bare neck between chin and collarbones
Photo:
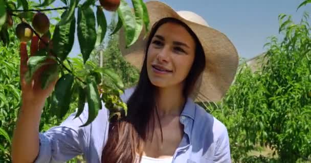
[[[176,88],[178,87],[178,88]],[[183,89],[181,86],[159,88],[157,91],[157,106],[159,116],[179,116],[185,104]]]

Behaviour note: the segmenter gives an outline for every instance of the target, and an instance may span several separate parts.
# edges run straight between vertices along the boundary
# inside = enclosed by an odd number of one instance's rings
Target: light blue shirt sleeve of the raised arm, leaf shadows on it
[[[87,146],[86,127],[79,127],[87,120],[87,103],[82,114],[71,114],[59,126],[39,133],[39,153],[34,162],[64,162],[84,153]]]

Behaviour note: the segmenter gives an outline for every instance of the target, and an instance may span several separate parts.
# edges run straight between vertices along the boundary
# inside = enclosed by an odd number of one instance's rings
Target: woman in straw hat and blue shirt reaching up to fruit
[[[153,25],[148,38],[142,33],[134,46],[122,49],[125,59],[141,68],[137,86],[122,95],[127,117],[108,123],[103,108],[94,122],[79,127],[87,119],[86,105],[79,118],[73,120],[72,114],[38,134],[42,106],[54,84],[37,90],[22,82],[13,160],[62,162],[83,154],[87,162],[231,162],[226,127],[194,100],[221,99],[237,69],[236,49],[194,13],[154,1],[147,8]]]

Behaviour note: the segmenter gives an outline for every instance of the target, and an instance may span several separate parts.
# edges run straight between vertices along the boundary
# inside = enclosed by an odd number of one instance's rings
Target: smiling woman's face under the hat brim
[[[195,55],[195,41],[180,24],[165,23],[154,34],[147,53],[147,73],[158,87],[181,85]]]

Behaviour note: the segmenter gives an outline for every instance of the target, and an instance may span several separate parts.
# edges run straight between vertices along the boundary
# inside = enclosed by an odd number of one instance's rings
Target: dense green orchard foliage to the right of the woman
[[[300,162],[311,158],[311,28],[281,14],[278,41],[266,44],[260,70],[244,62],[235,82],[212,114],[228,127],[232,157],[241,162]],[[257,145],[272,148],[277,160],[248,156]],[[256,160],[256,161],[255,161]]]

